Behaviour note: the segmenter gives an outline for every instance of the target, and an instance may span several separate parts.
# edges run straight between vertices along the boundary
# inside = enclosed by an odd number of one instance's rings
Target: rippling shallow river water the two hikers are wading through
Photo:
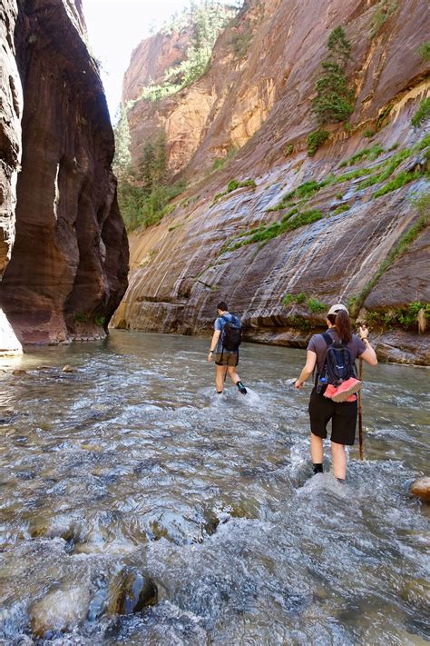
[[[3,362],[28,372],[0,373],[0,643],[427,643],[429,508],[408,486],[428,371],[365,366],[342,487],[310,478],[309,388],[286,384],[305,353],[245,344],[249,395],[220,397],[208,343],[113,332]],[[124,568],[156,605],[112,610]],[[37,640],[58,591],[66,628]]]

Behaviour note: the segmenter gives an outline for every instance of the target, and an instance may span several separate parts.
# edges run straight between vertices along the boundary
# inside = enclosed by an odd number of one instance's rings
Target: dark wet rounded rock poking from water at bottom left
[[[110,614],[140,612],[158,601],[155,583],[134,568],[122,570],[110,586]]]

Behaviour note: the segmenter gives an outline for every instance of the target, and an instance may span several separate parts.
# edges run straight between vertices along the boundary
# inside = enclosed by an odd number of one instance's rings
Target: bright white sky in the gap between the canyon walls
[[[122,77],[132,50],[190,0],[83,0],[93,55],[102,62],[111,119],[121,102]]]

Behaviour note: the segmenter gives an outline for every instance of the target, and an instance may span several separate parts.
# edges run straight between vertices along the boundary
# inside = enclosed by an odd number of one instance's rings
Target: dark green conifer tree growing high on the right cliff
[[[327,49],[322,74],[315,84],[317,96],[312,101],[312,111],[320,125],[347,121],[354,112],[354,93],[347,86],[345,72],[351,44],[341,26],[329,35]]]

